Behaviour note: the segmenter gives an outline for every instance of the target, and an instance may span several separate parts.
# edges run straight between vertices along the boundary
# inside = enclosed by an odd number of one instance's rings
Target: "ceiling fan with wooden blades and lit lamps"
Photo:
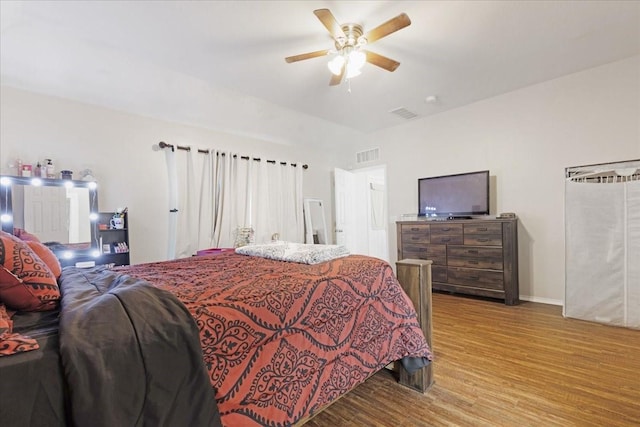
[[[335,49],[318,50],[315,52],[303,53],[300,55],[285,58],[288,63],[302,61],[305,59],[317,58],[325,55],[334,55],[329,61],[329,70],[332,76],[329,85],[335,86],[342,82],[344,78],[350,79],[360,74],[360,69],[368,62],[387,71],[395,71],[400,65],[399,62],[386,56],[365,50],[368,44],[380,40],[391,33],[403,29],[411,24],[411,20],[406,13],[401,13],[395,18],[378,25],[368,33],[364,33],[359,24],[338,24],[336,18],[329,9],[317,9],[313,13],[333,37]]]

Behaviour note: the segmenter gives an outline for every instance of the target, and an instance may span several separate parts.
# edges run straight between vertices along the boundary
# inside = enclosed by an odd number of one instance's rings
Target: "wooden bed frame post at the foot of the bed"
[[[424,259],[403,259],[396,262],[396,275],[402,289],[413,302],[418,313],[418,322],[433,351],[431,335],[431,263]],[[413,375],[398,363],[400,384],[425,393],[433,385],[433,362]]]

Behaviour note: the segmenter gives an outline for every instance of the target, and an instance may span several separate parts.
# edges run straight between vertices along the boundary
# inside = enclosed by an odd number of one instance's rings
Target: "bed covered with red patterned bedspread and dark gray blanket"
[[[227,252],[68,267],[59,283],[59,311],[14,316],[25,334],[38,316],[48,323],[39,350],[0,358],[2,424],[289,426],[390,362],[413,371],[431,359],[411,301],[376,258]],[[7,372],[38,392],[7,403]]]

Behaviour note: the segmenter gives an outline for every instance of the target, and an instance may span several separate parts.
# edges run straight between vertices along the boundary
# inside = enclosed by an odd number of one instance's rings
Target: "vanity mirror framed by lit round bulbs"
[[[56,253],[97,249],[91,220],[97,212],[95,182],[0,177],[2,231],[19,235],[24,230]]]

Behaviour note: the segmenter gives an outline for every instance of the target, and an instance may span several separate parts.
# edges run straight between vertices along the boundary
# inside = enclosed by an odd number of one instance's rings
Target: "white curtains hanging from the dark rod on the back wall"
[[[169,230],[170,259],[191,256],[200,249],[234,247],[240,228],[251,228],[256,243],[276,235],[303,242],[303,171],[299,165],[247,160],[216,150],[206,154],[166,151],[170,198],[175,186],[178,209],[171,214],[177,225],[175,231],[171,226]],[[170,158],[175,159],[173,173]]]

